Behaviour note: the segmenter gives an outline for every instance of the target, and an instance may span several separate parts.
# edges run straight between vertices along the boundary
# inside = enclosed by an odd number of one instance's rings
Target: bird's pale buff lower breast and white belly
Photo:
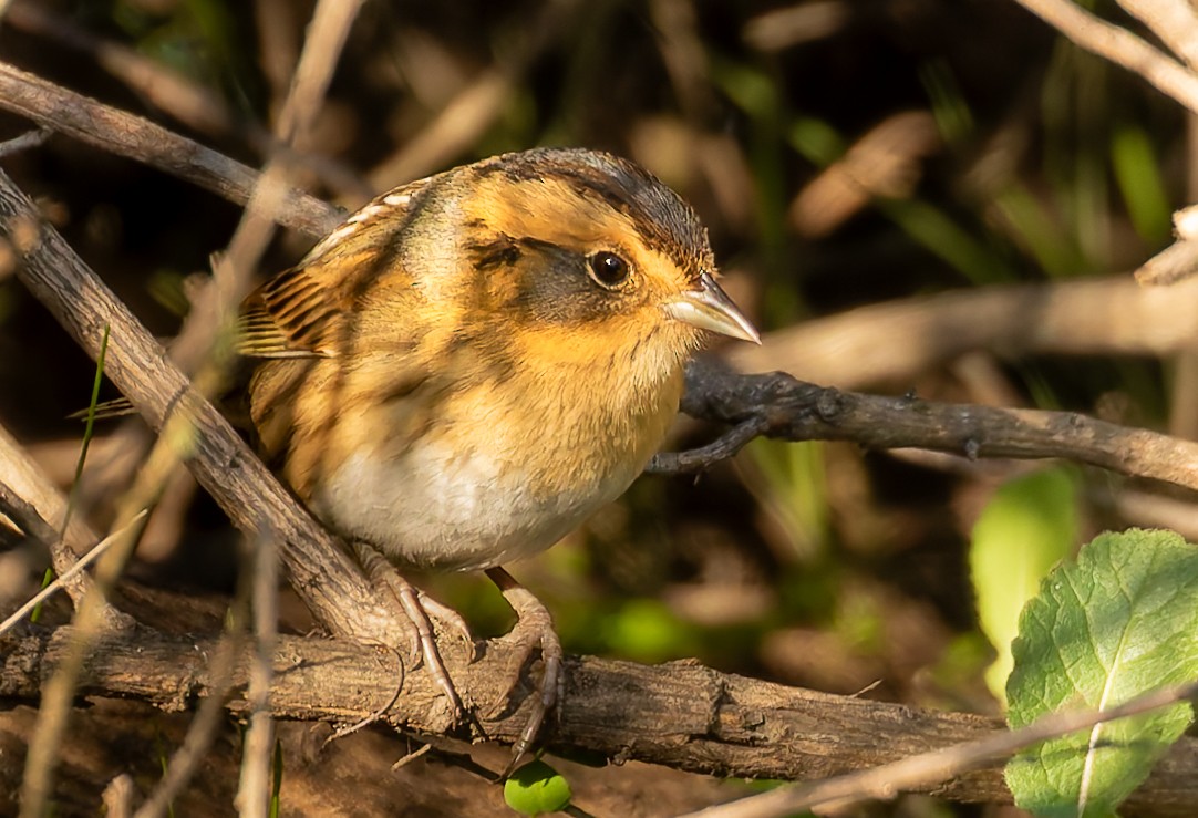
[[[319,513],[399,564],[512,562],[553,545],[623,493],[677,412],[672,389],[613,413],[587,410],[597,398],[589,387],[580,402],[501,386],[454,395],[431,428],[398,449],[353,447],[316,487]],[[386,418],[370,425],[386,434]]]

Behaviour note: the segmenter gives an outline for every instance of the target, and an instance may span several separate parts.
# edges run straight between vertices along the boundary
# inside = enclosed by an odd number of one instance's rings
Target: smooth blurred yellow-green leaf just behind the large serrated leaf
[[[998,659],[986,684],[1006,701],[1006,678],[1015,661],[1011,641],[1019,611],[1040,581],[1069,556],[1077,540],[1077,486],[1073,471],[1049,468],[1002,486],[974,525],[969,575],[978,598],[978,622]]]

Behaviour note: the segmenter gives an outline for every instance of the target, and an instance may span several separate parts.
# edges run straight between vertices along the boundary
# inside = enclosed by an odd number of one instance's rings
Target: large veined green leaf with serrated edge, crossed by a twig
[[[1198,550],[1172,532],[1102,534],[1054,570],[1019,619],[1006,687],[1012,728],[1108,710],[1198,677]],[[1107,816],[1193,719],[1188,702],[1097,725],[1012,758],[1015,801],[1037,816]]]

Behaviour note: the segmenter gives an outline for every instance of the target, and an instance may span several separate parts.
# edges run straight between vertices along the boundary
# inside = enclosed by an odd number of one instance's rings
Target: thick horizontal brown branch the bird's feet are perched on
[[[117,696],[179,709],[213,689],[216,638],[184,638],[140,630],[108,635],[92,654],[80,696]],[[41,679],[61,660],[69,629],[0,638],[0,696],[32,701]],[[237,662],[226,707],[248,715],[253,649]],[[507,693],[514,648],[490,642],[465,665],[450,652],[449,669],[464,680],[478,713]],[[271,704],[276,716],[351,722],[387,709],[385,721],[417,732],[444,728],[438,689],[424,673],[404,679],[395,698],[395,658],[353,642],[280,636],[274,653]],[[568,658],[562,707],[550,745],[585,747],[617,761],[726,776],[817,780],[877,767],[921,752],[996,735],[997,720],[920,710],[901,704],[787,687],[719,673],[683,661],[660,667],[593,658]],[[522,691],[513,701],[526,703]],[[501,708],[502,710],[502,708]],[[619,719],[612,719],[618,713]],[[482,717],[485,732],[513,740],[524,707]],[[1002,770],[990,768],[927,786],[924,792],[962,801],[1009,802]],[[1198,740],[1182,739],[1129,802],[1156,816],[1193,814],[1198,805]]]

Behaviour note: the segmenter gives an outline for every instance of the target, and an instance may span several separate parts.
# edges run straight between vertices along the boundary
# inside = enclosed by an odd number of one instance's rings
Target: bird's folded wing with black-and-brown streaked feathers
[[[237,351],[252,358],[337,357],[349,340],[345,316],[363,286],[394,262],[397,237],[434,178],[376,198],[303,261],[254,290],[242,303]]]

